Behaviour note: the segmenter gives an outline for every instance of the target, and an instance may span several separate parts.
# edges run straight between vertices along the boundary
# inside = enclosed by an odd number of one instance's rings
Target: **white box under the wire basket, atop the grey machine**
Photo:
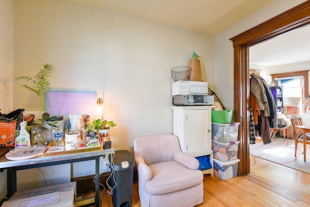
[[[172,83],[172,96],[208,94],[208,82],[179,80]]]

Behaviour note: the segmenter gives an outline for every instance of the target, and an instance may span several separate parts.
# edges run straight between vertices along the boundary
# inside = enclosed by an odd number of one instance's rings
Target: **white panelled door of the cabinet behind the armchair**
[[[190,154],[211,154],[211,110],[188,110],[186,115],[187,150]]]

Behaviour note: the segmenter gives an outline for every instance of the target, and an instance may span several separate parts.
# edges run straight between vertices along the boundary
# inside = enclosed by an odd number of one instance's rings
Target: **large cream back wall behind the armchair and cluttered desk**
[[[203,81],[215,88],[212,35],[66,0],[13,2],[13,98],[8,96],[13,110],[41,111],[38,98],[14,80],[52,64],[51,86],[96,91],[104,98],[104,118],[117,124],[111,129],[113,147],[133,152],[138,136],[173,133],[171,68],[186,66],[193,50],[200,55]],[[94,164],[75,163],[72,169],[74,176],[90,175]],[[67,165],[44,168],[47,176],[55,175],[49,181],[67,179],[58,172],[68,171]],[[38,170],[26,172],[35,176],[17,180],[18,190],[27,183],[43,184]]]

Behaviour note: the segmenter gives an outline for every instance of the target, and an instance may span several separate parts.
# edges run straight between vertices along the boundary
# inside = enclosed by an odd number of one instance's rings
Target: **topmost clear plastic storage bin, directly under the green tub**
[[[239,125],[240,123],[238,122],[232,122],[230,124],[212,122],[212,140],[219,143],[237,142]]]

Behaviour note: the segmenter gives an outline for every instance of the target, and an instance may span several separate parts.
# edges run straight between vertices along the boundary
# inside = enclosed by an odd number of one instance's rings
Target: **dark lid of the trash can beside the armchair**
[[[135,165],[134,156],[127,150],[117,150],[109,154],[109,162],[113,162],[116,171],[127,170]]]

